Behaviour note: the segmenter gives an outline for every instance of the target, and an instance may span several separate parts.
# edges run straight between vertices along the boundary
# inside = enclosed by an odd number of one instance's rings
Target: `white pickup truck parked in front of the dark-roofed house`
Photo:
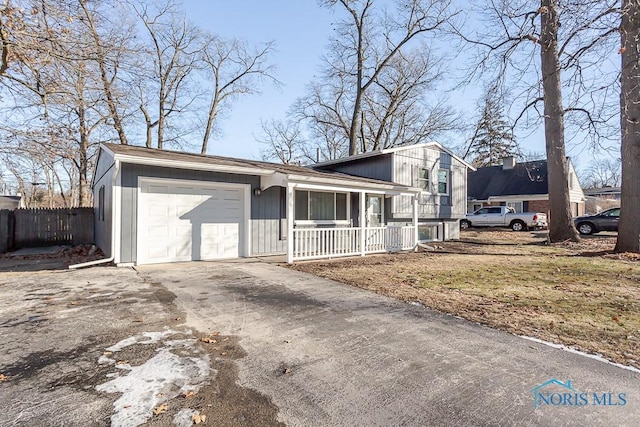
[[[467,214],[460,220],[460,228],[469,227],[509,227],[513,231],[527,231],[530,228],[546,228],[547,215],[540,212],[516,211],[509,206],[489,206]]]

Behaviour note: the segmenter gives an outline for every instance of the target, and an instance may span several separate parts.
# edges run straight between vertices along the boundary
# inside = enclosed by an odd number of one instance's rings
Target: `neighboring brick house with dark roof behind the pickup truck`
[[[570,159],[567,164],[571,214],[584,215],[585,195]],[[547,161],[516,163],[513,157],[507,157],[500,166],[470,172],[467,203],[469,213],[484,206],[511,206],[516,212],[545,212],[548,215]]]

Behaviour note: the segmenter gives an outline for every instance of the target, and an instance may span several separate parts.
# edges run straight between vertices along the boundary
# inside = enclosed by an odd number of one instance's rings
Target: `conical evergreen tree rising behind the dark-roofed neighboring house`
[[[496,91],[490,89],[464,157],[478,168],[499,165],[504,157],[515,156],[516,152],[516,139],[504,118],[502,104]]]

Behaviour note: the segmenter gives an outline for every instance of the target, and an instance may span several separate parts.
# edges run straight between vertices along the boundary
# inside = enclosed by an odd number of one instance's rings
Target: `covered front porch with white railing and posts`
[[[286,191],[287,263],[410,250],[419,241],[420,189],[390,182],[309,176],[263,177]],[[408,221],[387,219],[393,196],[410,196]]]

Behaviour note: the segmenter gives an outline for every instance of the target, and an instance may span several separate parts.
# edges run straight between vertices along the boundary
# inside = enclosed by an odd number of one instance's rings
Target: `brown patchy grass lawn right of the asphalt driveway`
[[[533,233],[462,238],[434,251],[291,268],[640,368],[640,259],[610,254],[615,238],[556,245]]]

